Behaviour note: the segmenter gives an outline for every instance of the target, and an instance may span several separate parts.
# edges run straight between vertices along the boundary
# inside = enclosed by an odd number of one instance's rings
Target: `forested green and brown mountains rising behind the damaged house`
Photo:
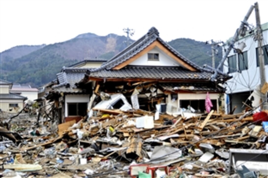
[[[169,44],[196,64],[211,65],[210,45],[186,38],[172,40]],[[54,80],[63,66],[69,66],[85,58],[110,59],[126,47],[126,37],[116,34],[98,36],[85,33],[65,42],[41,46],[24,47],[24,49],[31,49],[32,52],[23,50],[22,47],[14,47],[2,52],[0,78],[39,87]],[[216,64],[219,59],[220,57],[216,56]]]

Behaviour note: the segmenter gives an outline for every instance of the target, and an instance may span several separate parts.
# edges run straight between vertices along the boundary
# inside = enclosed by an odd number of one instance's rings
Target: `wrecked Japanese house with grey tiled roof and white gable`
[[[211,75],[173,49],[152,27],[99,68],[64,68],[49,97],[56,101],[62,122],[86,116],[101,101],[101,92],[123,94],[134,109],[155,111],[162,104],[163,112],[176,113],[180,108],[204,112],[207,93],[213,110],[218,110],[219,94],[224,93],[224,88],[210,81]],[[225,82],[229,77],[218,75],[218,79]],[[122,105],[118,99],[107,109]]]

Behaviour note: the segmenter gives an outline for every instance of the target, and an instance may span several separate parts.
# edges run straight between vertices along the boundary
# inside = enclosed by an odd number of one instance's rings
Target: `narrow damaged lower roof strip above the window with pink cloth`
[[[164,90],[169,91],[208,91],[208,92],[224,92],[225,89],[213,83],[161,83],[159,84]]]

